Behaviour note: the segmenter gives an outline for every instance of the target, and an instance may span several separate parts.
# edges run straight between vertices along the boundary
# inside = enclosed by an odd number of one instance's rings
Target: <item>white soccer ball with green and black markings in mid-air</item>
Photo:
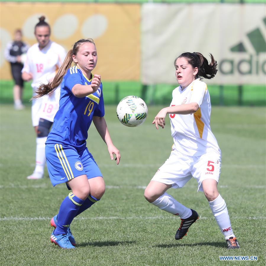
[[[127,96],[117,105],[116,115],[119,121],[127,127],[141,125],[147,117],[148,108],[141,98]]]

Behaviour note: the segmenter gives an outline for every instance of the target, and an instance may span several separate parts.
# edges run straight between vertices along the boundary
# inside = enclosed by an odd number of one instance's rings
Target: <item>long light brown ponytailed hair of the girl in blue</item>
[[[55,75],[53,81],[49,82],[48,84],[41,84],[41,86],[39,86],[39,88],[36,90],[37,95],[34,96],[33,98],[40,98],[41,96],[49,94],[60,85],[67,70],[71,67],[71,64],[73,62],[72,55],[77,54],[80,45],[83,43],[93,43],[95,45],[93,39],[91,38],[80,39],[79,41],[75,42],[73,49],[70,49],[68,51],[67,56],[62,66],[59,68],[57,74]]]

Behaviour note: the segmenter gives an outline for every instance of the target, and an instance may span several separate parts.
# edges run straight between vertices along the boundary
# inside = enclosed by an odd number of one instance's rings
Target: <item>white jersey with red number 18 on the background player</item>
[[[27,51],[26,61],[22,72],[31,73],[33,80],[31,86],[33,95],[36,88],[41,84],[47,84],[61,67],[66,56],[65,49],[52,41],[43,48],[39,49],[39,44],[35,43]]]

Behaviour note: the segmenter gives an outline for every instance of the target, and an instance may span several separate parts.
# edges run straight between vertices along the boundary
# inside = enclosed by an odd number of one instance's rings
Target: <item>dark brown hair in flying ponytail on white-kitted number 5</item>
[[[198,73],[196,75],[196,78],[202,77],[202,78],[207,78],[207,79],[211,79],[214,78],[214,76],[217,73],[217,61],[214,60],[214,57],[212,54],[209,54],[211,57],[211,62],[209,63],[208,60],[201,54],[198,52],[194,52],[194,53],[183,53],[180,54],[180,56],[178,56],[175,59],[175,62],[178,58],[180,57],[184,57],[188,60],[188,64],[192,65],[192,67],[197,67],[198,68]],[[174,65],[175,65],[174,62]]]

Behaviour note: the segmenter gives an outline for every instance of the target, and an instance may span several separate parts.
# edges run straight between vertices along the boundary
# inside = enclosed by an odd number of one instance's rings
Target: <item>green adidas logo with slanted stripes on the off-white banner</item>
[[[264,25],[266,26],[266,17],[263,19]],[[246,33],[249,45],[253,47],[255,53],[249,52],[246,48],[246,45],[243,41],[233,45],[230,48],[232,53],[241,53],[242,58],[236,59],[232,58],[223,58],[220,60],[219,71],[223,75],[232,75],[235,72],[238,72],[240,75],[266,75],[266,41],[264,35],[262,34],[259,28]]]

